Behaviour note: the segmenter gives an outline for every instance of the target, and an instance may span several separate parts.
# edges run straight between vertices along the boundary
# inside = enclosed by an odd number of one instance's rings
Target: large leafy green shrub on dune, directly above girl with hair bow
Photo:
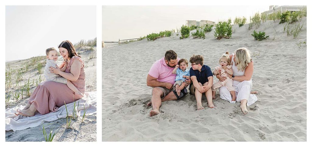
[[[221,38],[229,39],[232,36],[232,25],[229,21],[223,21],[216,24],[215,34],[217,40]]]

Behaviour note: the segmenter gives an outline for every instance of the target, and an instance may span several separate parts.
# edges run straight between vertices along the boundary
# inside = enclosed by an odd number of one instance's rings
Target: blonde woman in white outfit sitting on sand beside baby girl
[[[253,73],[253,61],[251,59],[249,50],[246,48],[239,48],[235,50],[234,54],[230,55],[232,62],[233,75],[229,75],[233,80],[233,87],[236,93],[236,102],[241,102],[241,111],[244,114],[248,113],[247,106],[250,106],[258,100],[255,94],[251,94]],[[217,78],[220,81],[224,81],[227,77],[222,77],[221,74],[217,74]],[[232,101],[230,92],[226,87],[219,89],[220,98]]]

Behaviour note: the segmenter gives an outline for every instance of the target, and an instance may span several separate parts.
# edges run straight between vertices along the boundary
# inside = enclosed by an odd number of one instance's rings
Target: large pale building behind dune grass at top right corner
[[[269,11],[262,12],[261,14],[272,14],[274,12],[280,11],[280,12],[285,12],[285,11],[300,11],[302,9],[306,9],[307,6],[278,6],[278,5],[271,5],[269,8]]]

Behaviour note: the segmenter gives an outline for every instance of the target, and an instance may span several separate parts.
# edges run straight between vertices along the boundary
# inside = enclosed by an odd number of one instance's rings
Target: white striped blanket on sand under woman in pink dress
[[[79,106],[77,106],[79,103]],[[73,116],[74,103],[66,104],[68,115]],[[7,109],[5,111],[5,130],[25,130],[27,128],[32,128],[40,126],[44,122],[51,122],[58,120],[60,118],[66,118],[66,108],[65,105],[61,106],[58,111],[51,112],[45,115],[36,113],[35,116],[15,116],[14,113],[17,109],[22,110],[25,106],[17,106],[14,108]],[[77,108],[78,107],[78,108]],[[96,92],[86,92],[85,96],[76,101],[76,110],[78,116],[83,116],[84,110],[86,111],[86,116],[96,115]],[[75,113],[74,113],[75,114]]]

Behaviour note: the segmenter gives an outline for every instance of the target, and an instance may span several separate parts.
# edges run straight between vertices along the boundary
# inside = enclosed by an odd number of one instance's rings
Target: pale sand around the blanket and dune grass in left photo
[[[58,49],[57,49],[58,50]],[[43,50],[44,52],[45,50]],[[90,47],[81,47],[76,49],[78,55],[81,56],[82,60],[85,63],[85,85],[86,92],[95,92],[96,91],[96,47],[90,49]],[[6,109],[14,108],[20,105],[26,105],[28,102],[27,99],[29,96],[20,97],[18,100],[14,99],[12,93],[15,93],[17,89],[21,89],[24,83],[27,83],[28,79],[30,80],[30,91],[31,93],[35,90],[36,82],[44,81],[43,70],[46,63],[46,56],[35,57],[30,59],[10,61],[6,63],[6,83],[11,81],[10,85],[6,84],[6,97],[9,96],[8,102],[6,102]],[[58,64],[61,64],[63,58],[59,56],[57,61]],[[32,63],[36,61],[36,63]],[[42,74],[40,77],[40,68],[37,69],[38,63],[41,63]],[[35,66],[35,67],[34,67]],[[24,68],[26,67],[26,69]],[[21,72],[21,80],[16,82],[17,74]],[[11,72],[9,74],[9,72]],[[7,79],[7,75],[10,75],[11,78]],[[18,83],[18,84],[17,84]],[[39,82],[40,83],[40,82]],[[7,93],[8,92],[8,93]],[[42,133],[42,127],[45,126],[46,132],[53,130],[55,132],[58,129],[58,132],[54,136],[53,141],[96,141],[96,114],[85,116],[84,122],[81,121],[81,117],[78,119],[72,120],[71,128],[66,129],[66,118],[61,118],[52,122],[45,122],[44,124],[28,128],[20,131],[6,131],[5,140],[6,141],[45,141],[45,138]]]

